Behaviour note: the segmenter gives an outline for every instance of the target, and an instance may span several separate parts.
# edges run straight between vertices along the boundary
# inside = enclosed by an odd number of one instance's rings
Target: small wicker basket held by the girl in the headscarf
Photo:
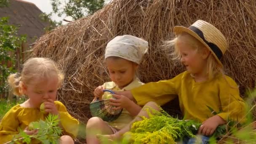
[[[104,92],[108,91],[114,94],[113,91],[103,90]],[[115,98],[113,98],[115,99]],[[100,117],[102,120],[107,122],[112,122],[116,120],[122,113],[123,109],[113,109],[115,106],[110,105],[109,99],[96,100],[90,104],[91,115],[93,117]]]

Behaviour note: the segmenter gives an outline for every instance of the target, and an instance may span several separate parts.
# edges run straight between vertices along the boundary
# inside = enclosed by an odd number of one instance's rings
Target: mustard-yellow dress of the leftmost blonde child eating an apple
[[[60,101],[54,101],[60,115],[60,122],[64,133],[69,133],[73,138],[77,136],[79,122],[67,112],[66,107]],[[13,136],[19,133],[19,128],[25,129],[29,123],[45,120],[45,116],[38,108],[21,107],[19,104],[12,107],[3,117],[0,123],[0,144],[11,141]],[[38,141],[32,141],[32,144]]]

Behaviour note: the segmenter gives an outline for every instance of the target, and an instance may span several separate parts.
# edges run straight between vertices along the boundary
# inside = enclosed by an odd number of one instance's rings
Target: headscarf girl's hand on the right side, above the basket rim
[[[115,106],[113,109],[122,109],[130,106],[131,100],[126,96],[112,94],[112,96],[116,99],[109,99],[111,101],[111,105]]]

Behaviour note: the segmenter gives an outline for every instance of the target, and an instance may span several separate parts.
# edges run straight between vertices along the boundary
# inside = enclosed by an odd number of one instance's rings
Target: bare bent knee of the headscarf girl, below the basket
[[[86,142],[87,144],[99,144],[97,134],[113,134],[109,125],[99,117],[92,117],[86,125]]]

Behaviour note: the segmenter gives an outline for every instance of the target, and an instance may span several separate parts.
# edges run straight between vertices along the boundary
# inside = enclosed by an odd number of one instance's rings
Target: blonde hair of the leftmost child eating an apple
[[[51,78],[56,75],[60,87],[64,80],[64,74],[54,61],[47,58],[30,58],[24,63],[21,74],[15,73],[8,76],[8,83],[13,94],[21,96],[24,94],[21,91],[23,86],[28,85],[33,79]]]

